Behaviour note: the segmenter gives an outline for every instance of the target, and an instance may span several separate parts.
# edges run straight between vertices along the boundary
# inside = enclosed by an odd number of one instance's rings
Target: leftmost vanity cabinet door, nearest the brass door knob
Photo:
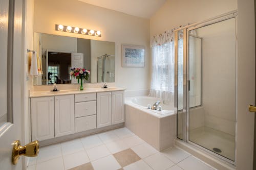
[[[53,97],[31,99],[31,137],[32,140],[54,138]]]

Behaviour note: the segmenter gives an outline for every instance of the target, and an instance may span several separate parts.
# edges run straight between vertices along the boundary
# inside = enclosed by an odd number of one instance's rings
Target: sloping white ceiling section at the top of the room
[[[150,18],[166,0],[78,0],[126,14]]]

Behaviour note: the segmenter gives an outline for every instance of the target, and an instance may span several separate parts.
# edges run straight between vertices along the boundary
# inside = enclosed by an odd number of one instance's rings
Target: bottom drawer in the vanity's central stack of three
[[[76,133],[96,128],[96,115],[76,118]]]

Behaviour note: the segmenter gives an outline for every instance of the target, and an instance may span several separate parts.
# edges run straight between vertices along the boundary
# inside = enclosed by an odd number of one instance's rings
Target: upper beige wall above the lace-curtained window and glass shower
[[[237,9],[237,0],[167,0],[150,19],[150,35]]]

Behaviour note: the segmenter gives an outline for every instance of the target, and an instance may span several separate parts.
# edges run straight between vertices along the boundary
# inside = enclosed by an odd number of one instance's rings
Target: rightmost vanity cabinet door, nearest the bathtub
[[[112,124],[124,122],[124,92],[112,92]]]

